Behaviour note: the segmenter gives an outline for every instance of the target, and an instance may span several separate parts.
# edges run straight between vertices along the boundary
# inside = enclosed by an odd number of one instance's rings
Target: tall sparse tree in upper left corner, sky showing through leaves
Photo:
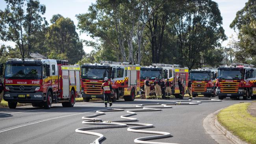
[[[7,7],[0,10],[0,39],[13,41],[20,50],[20,55],[25,58],[30,54],[37,39],[45,18],[46,7],[37,0],[5,0]],[[24,7],[26,5],[26,10]],[[27,53],[26,53],[27,52]]]

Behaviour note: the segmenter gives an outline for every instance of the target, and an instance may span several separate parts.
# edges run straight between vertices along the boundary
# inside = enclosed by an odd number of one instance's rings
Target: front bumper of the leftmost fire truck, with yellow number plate
[[[16,93],[6,91],[4,92],[4,100],[7,102],[19,103],[40,103],[46,100],[46,96],[44,96],[43,92]]]

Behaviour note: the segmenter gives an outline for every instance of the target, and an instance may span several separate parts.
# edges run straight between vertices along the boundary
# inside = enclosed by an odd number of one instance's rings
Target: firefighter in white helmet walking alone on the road
[[[110,82],[108,81],[108,78],[104,78],[104,83],[102,83],[102,89],[104,90],[104,103],[105,107],[107,107],[108,102],[109,102],[109,107],[112,105],[112,100],[111,100],[111,94],[113,92],[112,86]]]

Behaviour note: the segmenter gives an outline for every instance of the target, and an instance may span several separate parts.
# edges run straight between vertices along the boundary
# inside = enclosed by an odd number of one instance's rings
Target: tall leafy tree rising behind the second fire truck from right
[[[221,46],[226,40],[218,4],[211,0],[186,0],[177,4],[174,30],[178,37],[181,65],[189,69],[200,63],[200,53]]]

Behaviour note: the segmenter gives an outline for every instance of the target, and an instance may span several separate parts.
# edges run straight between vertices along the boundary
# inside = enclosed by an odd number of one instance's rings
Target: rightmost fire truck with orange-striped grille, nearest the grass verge
[[[245,88],[246,80],[244,76],[246,69],[251,68],[245,64],[232,64],[232,66],[220,66],[218,68],[218,79],[214,91],[220,100],[223,100],[227,96],[232,99],[239,99],[240,96],[244,100],[249,98],[249,95],[246,95]]]

